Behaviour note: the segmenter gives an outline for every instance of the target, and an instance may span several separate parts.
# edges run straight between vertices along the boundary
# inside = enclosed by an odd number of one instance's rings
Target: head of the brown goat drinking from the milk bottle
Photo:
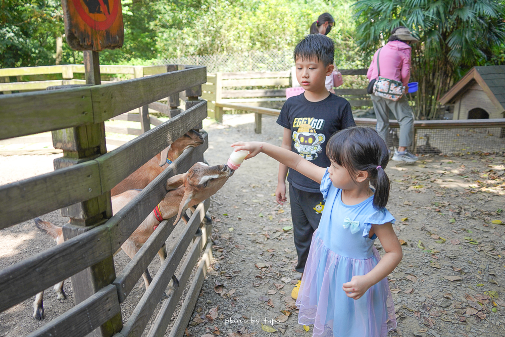
[[[214,195],[226,180],[233,175],[227,165],[209,166],[205,163],[194,164],[186,173],[178,174],[167,180],[167,190],[184,188],[184,196],[179,205],[179,213],[174,225],[179,221],[182,212]]]

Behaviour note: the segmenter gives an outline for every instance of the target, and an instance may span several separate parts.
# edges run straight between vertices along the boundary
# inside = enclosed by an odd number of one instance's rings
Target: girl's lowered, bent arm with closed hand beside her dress
[[[384,254],[374,269],[366,275],[352,276],[349,282],[342,285],[342,290],[346,293],[347,297],[355,300],[362,297],[372,285],[387,277],[400,263],[402,258],[401,246],[391,223],[372,225],[372,230],[379,238],[386,254]]]

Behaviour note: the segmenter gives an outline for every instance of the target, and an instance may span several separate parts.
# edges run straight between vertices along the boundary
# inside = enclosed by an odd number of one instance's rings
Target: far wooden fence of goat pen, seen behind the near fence
[[[167,71],[175,71],[184,69],[183,65],[159,65],[159,66],[115,66],[115,65],[100,65],[100,74],[102,74],[102,83],[113,83],[120,80],[141,78],[165,73]],[[79,76],[80,75],[80,76]],[[117,77],[117,76],[120,77]],[[6,68],[0,69],[0,93],[10,94],[12,91],[29,92],[36,90],[44,90],[57,88],[61,85],[83,85],[86,83],[84,79],[75,77],[84,76],[84,65],[60,65],[60,66],[43,66],[43,67],[25,67],[25,68]],[[16,77],[17,82],[11,82]],[[54,77],[62,77],[62,79],[50,79]],[[167,98],[164,98],[165,100]],[[175,116],[180,112],[179,95],[175,94],[165,102],[153,102],[148,106],[141,107],[136,110],[128,111],[122,115],[115,116],[111,120],[124,120],[140,123],[139,127],[123,127],[106,125],[105,131],[120,134],[140,135],[150,129],[150,125],[158,126],[163,122],[149,113],[160,112],[166,116]],[[107,144],[120,146],[126,143],[125,140],[107,137]],[[0,140],[0,144],[13,143],[34,143],[34,142],[51,142],[51,135],[36,135],[30,137],[11,138]]]

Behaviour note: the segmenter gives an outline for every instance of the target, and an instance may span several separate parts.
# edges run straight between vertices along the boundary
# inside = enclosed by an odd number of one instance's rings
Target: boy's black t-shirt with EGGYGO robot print
[[[319,167],[330,166],[326,143],[338,130],[355,126],[347,100],[330,92],[322,101],[310,102],[304,93],[287,99],[277,124],[291,130],[291,151]],[[319,184],[305,175],[289,169],[287,180],[294,187],[319,192]]]

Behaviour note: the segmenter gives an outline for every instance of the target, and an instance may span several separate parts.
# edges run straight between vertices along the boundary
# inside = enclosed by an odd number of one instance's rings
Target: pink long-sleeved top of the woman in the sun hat
[[[407,86],[410,79],[411,51],[411,46],[405,42],[387,42],[380,52],[380,75],[385,78],[401,81],[403,85]],[[377,53],[378,51],[375,52],[372,63],[368,68],[367,77],[369,81],[379,76],[377,70]]]

